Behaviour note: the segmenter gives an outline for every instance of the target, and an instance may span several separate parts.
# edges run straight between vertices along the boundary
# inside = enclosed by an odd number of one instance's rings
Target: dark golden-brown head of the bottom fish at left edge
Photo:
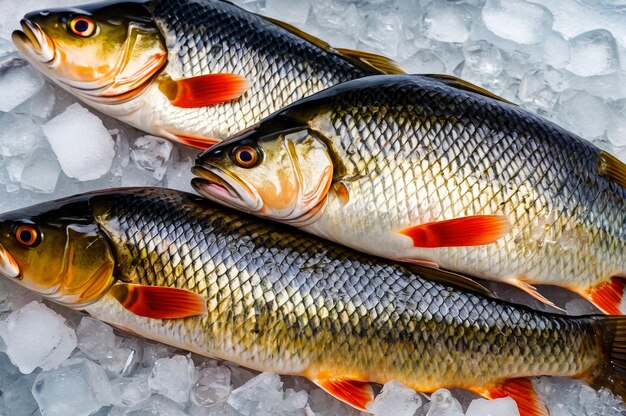
[[[87,200],[0,215],[0,275],[57,303],[81,307],[114,283],[114,255]]]

